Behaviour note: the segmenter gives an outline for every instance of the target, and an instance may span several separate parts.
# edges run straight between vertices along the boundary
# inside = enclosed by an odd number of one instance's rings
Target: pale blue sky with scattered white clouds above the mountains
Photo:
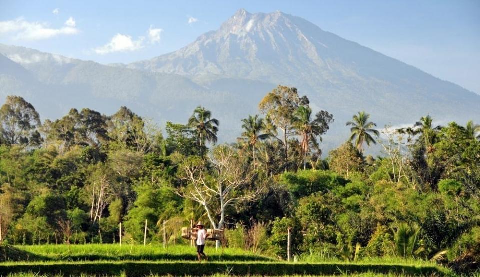
[[[0,43],[128,63],[177,50],[239,8],[303,17],[480,93],[480,0],[0,0]]]

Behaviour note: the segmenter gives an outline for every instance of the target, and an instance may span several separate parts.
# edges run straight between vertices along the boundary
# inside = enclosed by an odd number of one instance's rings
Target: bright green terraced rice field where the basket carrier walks
[[[455,276],[432,262],[398,258],[362,261],[302,257],[295,262],[236,248],[86,244],[0,248],[1,276]]]

